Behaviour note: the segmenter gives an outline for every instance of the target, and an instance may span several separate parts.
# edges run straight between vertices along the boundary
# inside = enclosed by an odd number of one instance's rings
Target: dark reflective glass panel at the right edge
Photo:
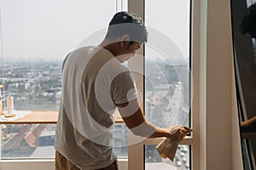
[[[238,114],[241,122],[241,148],[244,169],[255,169],[255,0],[234,1],[232,4],[232,31],[236,68]],[[250,121],[248,121],[250,120]],[[251,133],[251,134],[250,134]]]

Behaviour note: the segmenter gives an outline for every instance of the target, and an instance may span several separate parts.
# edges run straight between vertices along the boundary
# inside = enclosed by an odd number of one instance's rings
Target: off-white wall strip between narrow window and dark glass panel
[[[200,50],[201,170],[242,169],[230,0],[201,0]]]

